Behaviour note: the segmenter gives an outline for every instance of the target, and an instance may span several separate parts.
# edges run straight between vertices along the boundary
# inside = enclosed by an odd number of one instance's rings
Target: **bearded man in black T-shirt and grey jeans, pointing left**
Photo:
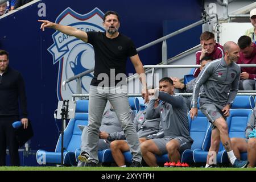
[[[85,43],[90,43],[94,48],[95,67],[94,77],[90,83],[87,150],[81,153],[79,159],[82,159],[82,162],[88,162],[86,166],[97,166],[98,131],[101,126],[102,114],[106,102],[109,100],[110,104],[114,107],[119,121],[122,123],[122,129],[125,133],[127,143],[133,153],[131,167],[141,167],[141,148],[137,132],[129,115],[127,88],[126,85],[118,86],[119,80],[117,77],[121,76],[123,78],[123,75],[125,75],[126,60],[130,57],[135,71],[142,81],[142,96],[147,101],[148,96],[144,68],[131,39],[118,32],[120,26],[118,14],[114,11],[107,11],[103,19],[105,32],[84,32],[74,27],[63,26],[47,20],[39,20],[39,22],[42,22],[41,29],[43,31],[44,28],[53,28],[63,32],[63,34],[75,36]],[[102,78],[104,78],[103,81]],[[115,78],[117,79],[115,80]],[[126,84],[126,79],[122,79],[122,83],[123,81]]]

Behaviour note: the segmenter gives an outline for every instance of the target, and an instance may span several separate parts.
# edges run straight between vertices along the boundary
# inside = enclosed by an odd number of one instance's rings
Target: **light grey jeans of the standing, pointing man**
[[[89,125],[84,151],[90,154],[90,162],[98,163],[98,133],[101,126],[102,114],[104,113],[106,102],[109,100],[117,114],[118,120],[121,122],[127,143],[133,154],[133,160],[141,162],[142,155],[139,138],[130,119],[127,88],[124,87],[122,93],[120,93],[121,89],[115,89],[115,87],[102,89],[97,86],[90,86]]]

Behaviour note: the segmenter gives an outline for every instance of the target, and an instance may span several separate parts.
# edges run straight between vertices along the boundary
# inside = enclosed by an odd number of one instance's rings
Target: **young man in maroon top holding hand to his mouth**
[[[200,60],[205,56],[212,57],[213,60],[224,56],[223,47],[216,43],[212,32],[203,32],[200,36],[200,44],[202,46],[202,50],[196,52],[196,64],[200,64]],[[200,69],[196,68],[193,75],[197,77],[199,73]]]

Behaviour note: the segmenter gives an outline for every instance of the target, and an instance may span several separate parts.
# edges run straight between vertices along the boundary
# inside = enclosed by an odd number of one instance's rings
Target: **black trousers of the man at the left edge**
[[[20,166],[19,145],[11,125],[18,116],[0,116],[0,166],[6,166],[6,147],[9,148],[11,166]]]

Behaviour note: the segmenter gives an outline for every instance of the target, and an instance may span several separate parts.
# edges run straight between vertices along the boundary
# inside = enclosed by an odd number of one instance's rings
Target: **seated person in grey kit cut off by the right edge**
[[[234,155],[240,159],[240,153],[247,152],[247,167],[255,167],[256,164],[256,107],[253,109],[250,120],[245,130],[246,138],[231,138]]]

